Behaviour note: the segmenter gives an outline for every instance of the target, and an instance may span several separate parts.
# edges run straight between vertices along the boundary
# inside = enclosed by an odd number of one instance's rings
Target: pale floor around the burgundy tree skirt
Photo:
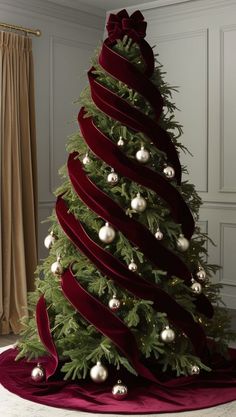
[[[0,353],[5,350],[6,346],[16,342],[17,337],[0,336]],[[101,417],[101,414],[90,414],[78,411],[63,410],[59,408],[47,407],[24,400],[16,395],[11,394],[0,385],[0,415],[4,417]],[[104,414],[105,417],[119,417],[117,414]],[[138,415],[136,417],[148,417]],[[236,401],[223,404],[218,407],[211,407],[198,411],[187,411],[184,413],[164,413],[149,414],[153,417],[235,417]]]

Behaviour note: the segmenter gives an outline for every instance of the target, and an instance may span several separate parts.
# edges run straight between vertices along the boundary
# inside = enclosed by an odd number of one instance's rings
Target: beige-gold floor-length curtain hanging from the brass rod
[[[0,334],[19,333],[37,263],[37,172],[31,39],[0,32]]]

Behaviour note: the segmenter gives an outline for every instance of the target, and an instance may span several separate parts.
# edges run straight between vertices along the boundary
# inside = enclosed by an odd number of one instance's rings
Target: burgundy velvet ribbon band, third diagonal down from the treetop
[[[128,158],[95,126],[91,117],[85,118],[84,115],[85,112],[81,109],[78,120],[84,140],[92,152],[114,168],[116,172],[150,188],[163,198],[176,223],[182,225],[184,236],[190,239],[194,232],[194,220],[188,205],[178,190],[162,175]],[[75,155],[73,155],[74,157]]]

